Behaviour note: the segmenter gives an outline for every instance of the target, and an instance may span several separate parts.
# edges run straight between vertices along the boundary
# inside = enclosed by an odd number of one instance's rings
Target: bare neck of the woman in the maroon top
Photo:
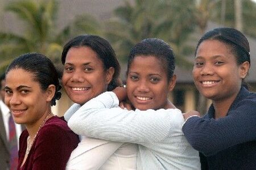
[[[38,133],[39,129],[43,126],[44,123],[46,123],[47,119],[50,117],[52,117],[52,113],[51,113],[51,110],[48,110],[35,123],[26,124],[26,128],[27,128],[28,134],[30,135],[30,138],[35,137],[35,135]]]

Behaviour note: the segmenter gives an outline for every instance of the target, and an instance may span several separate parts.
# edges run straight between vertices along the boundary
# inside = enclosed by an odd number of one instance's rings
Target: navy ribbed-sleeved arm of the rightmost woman
[[[191,117],[183,125],[184,135],[193,148],[207,156],[230,146],[255,140],[255,133],[252,132],[256,130],[255,121],[239,113],[234,115],[217,120]]]

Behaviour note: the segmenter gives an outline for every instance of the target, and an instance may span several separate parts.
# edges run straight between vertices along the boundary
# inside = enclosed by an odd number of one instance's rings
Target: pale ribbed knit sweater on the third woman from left
[[[65,118],[76,134],[139,144],[137,169],[200,169],[199,153],[181,131],[179,109],[129,111],[118,104],[113,92],[105,92]]]

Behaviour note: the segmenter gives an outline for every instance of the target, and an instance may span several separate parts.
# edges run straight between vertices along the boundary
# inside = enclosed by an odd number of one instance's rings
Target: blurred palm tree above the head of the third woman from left
[[[112,42],[117,55],[127,60],[131,47],[145,38],[160,38],[174,48],[177,64],[188,67],[185,59],[192,52],[187,44],[193,31],[193,5],[191,1],[125,1],[114,10],[115,18],[107,23],[106,36]]]

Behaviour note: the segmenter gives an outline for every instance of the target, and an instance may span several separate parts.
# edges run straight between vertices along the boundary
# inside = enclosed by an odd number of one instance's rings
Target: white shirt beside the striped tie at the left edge
[[[6,132],[6,139],[9,140],[9,117],[11,116],[10,110],[5,105],[5,103],[0,99],[0,109],[2,111],[2,117],[3,117],[3,124],[5,125],[5,132]],[[17,146],[19,148],[19,136],[22,132],[21,125],[15,123],[16,128],[16,138],[17,138]]]

